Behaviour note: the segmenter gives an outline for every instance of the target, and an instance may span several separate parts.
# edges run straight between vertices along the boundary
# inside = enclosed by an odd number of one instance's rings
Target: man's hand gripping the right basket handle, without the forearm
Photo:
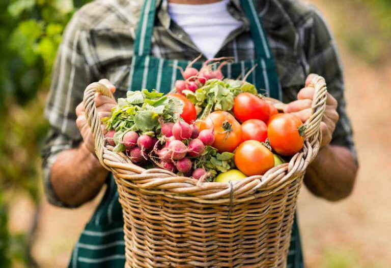
[[[285,113],[291,113],[299,117],[303,123],[310,118],[312,112],[311,105],[315,89],[308,86],[312,77],[313,75],[309,75],[306,79],[305,87],[297,94],[297,101],[289,103],[284,110]],[[326,110],[323,121],[320,124],[323,137],[321,147],[331,142],[332,133],[339,119],[337,106],[337,100],[331,94],[327,93]]]

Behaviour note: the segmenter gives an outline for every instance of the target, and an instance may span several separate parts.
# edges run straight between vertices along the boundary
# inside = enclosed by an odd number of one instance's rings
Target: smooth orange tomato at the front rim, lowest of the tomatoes
[[[258,141],[245,141],[234,156],[236,167],[247,176],[263,175],[274,166],[273,153]]]

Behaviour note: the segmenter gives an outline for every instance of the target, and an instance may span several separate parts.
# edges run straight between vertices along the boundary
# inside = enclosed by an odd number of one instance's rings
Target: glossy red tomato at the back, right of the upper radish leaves
[[[262,98],[243,92],[235,97],[233,112],[240,122],[259,119],[266,123],[269,120],[270,108]]]

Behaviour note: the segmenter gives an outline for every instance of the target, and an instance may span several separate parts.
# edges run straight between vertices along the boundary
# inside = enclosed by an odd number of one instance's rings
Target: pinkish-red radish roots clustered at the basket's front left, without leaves
[[[106,134],[106,142],[113,146],[114,135],[114,130]],[[162,123],[159,139],[138,135],[135,131],[126,132],[122,138],[125,153],[133,163],[143,165],[153,162],[162,169],[191,175],[195,179],[206,175],[207,171],[203,168],[194,169],[193,161],[213,142],[212,130],[199,131],[197,126],[184,121]]]

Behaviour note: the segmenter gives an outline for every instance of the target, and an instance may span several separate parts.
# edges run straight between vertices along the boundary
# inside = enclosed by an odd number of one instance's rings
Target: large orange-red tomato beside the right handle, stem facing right
[[[270,118],[267,137],[270,146],[281,155],[294,155],[303,148],[304,138],[300,136],[300,118],[292,114],[276,114]]]

